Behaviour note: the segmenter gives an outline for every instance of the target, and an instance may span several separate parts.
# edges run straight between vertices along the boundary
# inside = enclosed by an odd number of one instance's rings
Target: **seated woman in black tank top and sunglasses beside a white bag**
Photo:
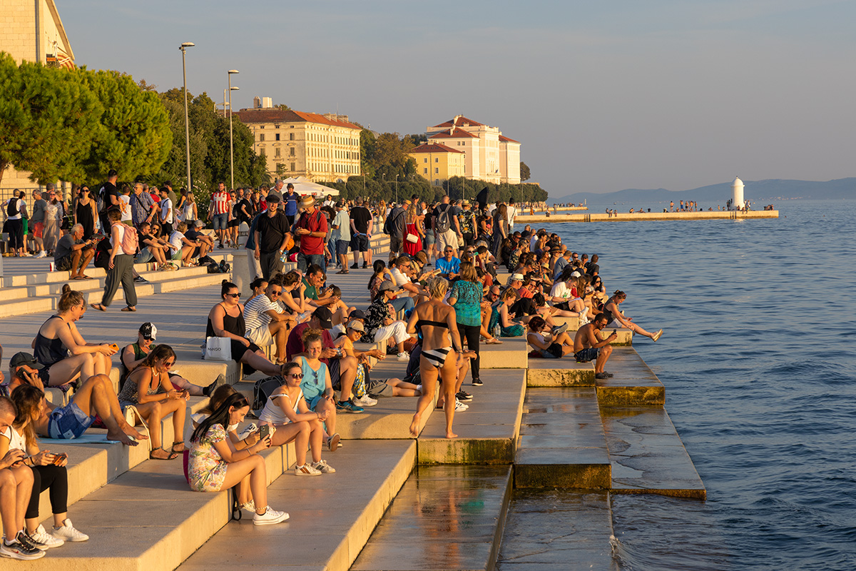
[[[220,295],[223,300],[208,312],[205,336],[230,339],[232,360],[243,363],[245,373],[261,371],[270,376],[280,374],[280,366],[267,360],[259,346],[244,336],[247,323],[244,321],[244,306],[238,301],[241,298],[238,286],[223,280]]]

